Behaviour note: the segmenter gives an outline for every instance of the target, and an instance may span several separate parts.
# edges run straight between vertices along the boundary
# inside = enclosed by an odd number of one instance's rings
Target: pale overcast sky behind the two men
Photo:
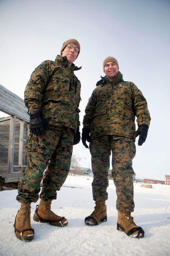
[[[104,76],[103,60],[115,57],[123,79],[142,91],[151,116],[147,140],[142,146],[136,140],[136,178],[170,175],[169,0],[0,0],[0,24],[0,84],[22,99],[34,68],[55,60],[66,40],[79,41],[80,130],[88,99]],[[91,168],[81,141],[73,154]]]

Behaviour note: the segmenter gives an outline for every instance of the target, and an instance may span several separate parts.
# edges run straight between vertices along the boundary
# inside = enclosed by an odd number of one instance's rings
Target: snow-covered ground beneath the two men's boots
[[[93,178],[68,175],[64,186],[53,200],[51,209],[68,219],[64,228],[33,220],[36,205],[31,204],[31,226],[34,239],[23,242],[16,238],[14,220],[20,203],[17,190],[0,192],[0,255],[170,255],[170,186],[153,184],[152,188],[134,183],[136,224],[144,231],[144,238],[130,238],[117,231],[116,190],[109,180],[107,222],[87,226],[86,216],[94,209],[92,198]]]

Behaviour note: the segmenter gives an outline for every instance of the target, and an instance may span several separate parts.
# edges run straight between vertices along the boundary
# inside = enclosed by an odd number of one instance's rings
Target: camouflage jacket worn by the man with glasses
[[[80,67],[81,68],[81,67]],[[76,132],[80,125],[80,81],[74,75],[79,70],[67,57],[57,55],[55,61],[44,61],[33,71],[25,88],[25,106],[30,112],[41,109],[50,126],[65,126]]]

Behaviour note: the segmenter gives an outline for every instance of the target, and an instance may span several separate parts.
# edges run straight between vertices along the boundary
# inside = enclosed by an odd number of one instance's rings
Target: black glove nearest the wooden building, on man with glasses
[[[30,113],[30,131],[37,136],[45,135],[45,130],[48,130],[48,124],[42,117],[41,110]]]

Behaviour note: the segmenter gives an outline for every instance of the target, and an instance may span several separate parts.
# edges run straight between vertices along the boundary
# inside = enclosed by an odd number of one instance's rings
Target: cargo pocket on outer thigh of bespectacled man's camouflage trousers
[[[36,157],[38,151],[39,137],[30,133],[25,144],[25,154],[30,157]]]

